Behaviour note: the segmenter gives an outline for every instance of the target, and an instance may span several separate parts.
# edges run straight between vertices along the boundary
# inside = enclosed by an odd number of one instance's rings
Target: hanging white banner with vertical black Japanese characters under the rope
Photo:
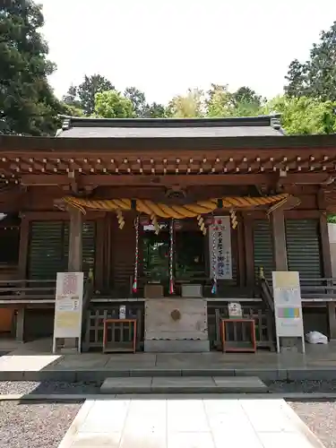
[[[229,216],[215,216],[209,228],[209,255],[212,266],[213,236],[215,243],[217,280],[232,279],[231,221]],[[211,279],[213,272],[211,268]]]

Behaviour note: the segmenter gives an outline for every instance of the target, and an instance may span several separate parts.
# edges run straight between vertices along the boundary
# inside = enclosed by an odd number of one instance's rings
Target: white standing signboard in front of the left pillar
[[[83,283],[83,272],[57,272],[54,353],[58,338],[78,338],[81,351]]]

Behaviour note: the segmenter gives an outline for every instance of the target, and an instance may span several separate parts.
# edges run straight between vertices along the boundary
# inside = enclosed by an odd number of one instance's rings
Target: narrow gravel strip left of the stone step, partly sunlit
[[[0,394],[6,393],[99,393],[101,383],[62,383],[59,381],[1,381]]]

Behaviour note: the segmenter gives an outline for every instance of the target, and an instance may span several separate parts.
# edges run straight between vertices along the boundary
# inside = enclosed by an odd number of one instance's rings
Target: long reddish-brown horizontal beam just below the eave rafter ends
[[[325,173],[289,174],[284,177],[287,185],[319,185],[329,176]],[[65,175],[22,175],[22,185],[69,185],[70,179]],[[82,175],[78,176],[78,185],[275,185],[276,174],[204,174],[204,175]]]

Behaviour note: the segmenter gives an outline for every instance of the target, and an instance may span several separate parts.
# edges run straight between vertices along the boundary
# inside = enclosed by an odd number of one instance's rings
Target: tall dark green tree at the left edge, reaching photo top
[[[0,133],[55,134],[62,108],[47,82],[55,65],[39,30],[41,7],[31,0],[0,5]]]

